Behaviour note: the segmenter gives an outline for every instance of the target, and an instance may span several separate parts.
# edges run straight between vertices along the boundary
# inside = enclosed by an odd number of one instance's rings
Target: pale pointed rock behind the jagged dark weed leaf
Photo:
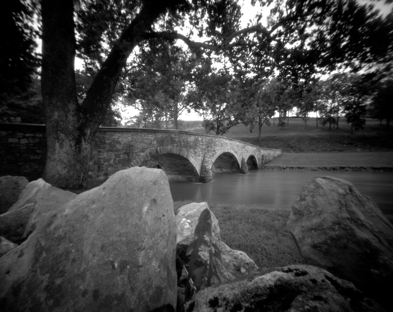
[[[209,208],[208,203],[191,203],[182,206],[176,215],[177,225],[177,243],[178,245],[185,245],[185,249],[194,239],[195,226],[198,223],[200,213]],[[211,212],[212,219],[212,233],[217,241],[222,254],[221,263],[215,260],[218,275],[222,283],[233,281],[250,272],[253,272],[258,267],[248,255],[240,250],[233,250],[221,241],[219,223]],[[209,261],[209,254],[207,250],[200,252],[202,259]],[[213,280],[214,281],[214,280]]]

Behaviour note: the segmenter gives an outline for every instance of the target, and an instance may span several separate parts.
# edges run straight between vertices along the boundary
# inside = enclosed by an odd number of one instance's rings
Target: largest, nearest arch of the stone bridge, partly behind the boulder
[[[159,146],[152,150],[145,151],[130,164],[130,167],[140,166],[149,159],[154,159],[160,164],[168,179],[189,182],[199,181],[200,168],[198,170],[198,167],[200,166],[198,166],[195,159],[182,148]]]

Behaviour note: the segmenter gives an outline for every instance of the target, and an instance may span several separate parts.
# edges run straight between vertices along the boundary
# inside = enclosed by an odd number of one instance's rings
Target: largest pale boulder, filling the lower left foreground
[[[0,258],[2,311],[176,305],[176,225],[162,170],[134,167],[44,213]]]

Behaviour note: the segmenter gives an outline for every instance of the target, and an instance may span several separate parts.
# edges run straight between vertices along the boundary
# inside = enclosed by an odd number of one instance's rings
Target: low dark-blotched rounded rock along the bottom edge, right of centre
[[[384,311],[354,285],[309,265],[290,265],[264,275],[206,288],[185,304],[186,312]]]

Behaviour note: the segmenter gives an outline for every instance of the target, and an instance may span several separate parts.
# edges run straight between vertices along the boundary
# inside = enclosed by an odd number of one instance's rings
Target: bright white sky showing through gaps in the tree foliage
[[[245,28],[247,27],[247,23],[249,22],[249,20],[253,19],[255,14],[257,13],[257,11],[260,11],[261,8],[259,7],[259,4],[257,3],[255,5],[255,7],[253,7],[251,5],[251,1],[250,0],[242,0],[239,1],[242,7],[242,18],[241,18],[241,27]],[[393,3],[387,5],[385,4],[385,1],[371,1],[371,0],[358,0],[358,2],[360,2],[361,4],[365,4],[365,3],[372,3],[376,8],[378,8],[380,10],[380,13],[382,13],[383,15],[388,14],[393,7]],[[263,18],[261,20],[263,25],[266,25],[266,17],[269,14],[270,9],[269,8],[263,8]],[[180,31],[179,31],[180,32]],[[181,33],[186,33],[185,31],[182,31]],[[195,41],[204,41],[204,38],[193,38],[193,40]],[[206,39],[205,39],[206,40]],[[178,44],[179,45],[183,45],[181,40],[178,40]],[[75,68],[76,69],[82,69],[83,68],[83,62],[81,59],[79,58],[75,58]],[[323,78],[323,77],[322,77]],[[123,108],[122,109],[122,116],[123,116],[123,121],[122,123],[124,124],[124,122],[126,121],[125,119],[128,119],[129,117],[132,117],[134,115],[138,115],[139,111],[135,108],[132,107],[128,107],[128,108]],[[276,114],[278,116],[278,112]],[[315,113],[314,113],[315,115]],[[315,116],[310,116],[310,117],[315,117]],[[275,117],[277,117],[275,116]],[[203,120],[202,116],[199,116],[195,111],[191,111],[191,113],[187,113],[184,112],[180,115],[180,120]]]

